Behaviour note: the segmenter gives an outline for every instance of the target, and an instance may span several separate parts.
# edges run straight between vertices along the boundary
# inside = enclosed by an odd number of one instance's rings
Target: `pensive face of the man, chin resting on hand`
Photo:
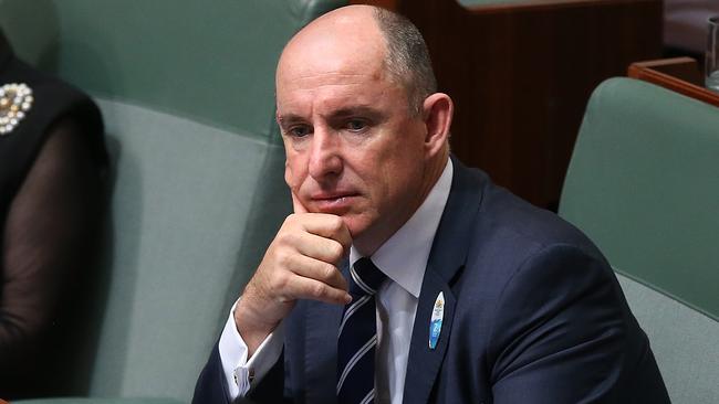
[[[288,47],[277,114],[294,198],[310,212],[341,216],[355,245],[372,253],[425,196],[426,127],[387,76],[382,42],[359,45],[363,52],[348,42]]]

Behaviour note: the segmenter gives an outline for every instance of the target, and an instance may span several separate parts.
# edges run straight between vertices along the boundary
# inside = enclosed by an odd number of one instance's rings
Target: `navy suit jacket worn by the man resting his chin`
[[[555,214],[452,160],[411,334],[404,402],[669,403],[646,334],[597,248]],[[410,268],[408,269],[410,270]],[[429,322],[445,317],[437,347]],[[336,403],[342,307],[304,300],[258,403]],[[194,403],[227,403],[217,348]]]

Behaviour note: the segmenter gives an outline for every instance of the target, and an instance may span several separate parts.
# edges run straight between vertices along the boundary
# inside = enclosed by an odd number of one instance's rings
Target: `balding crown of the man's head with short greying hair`
[[[406,18],[372,6],[347,6],[327,12],[298,32],[288,43],[278,66],[310,71],[324,64],[378,66],[383,77],[400,86],[409,109],[419,114],[424,99],[437,91],[429,52],[417,28]]]

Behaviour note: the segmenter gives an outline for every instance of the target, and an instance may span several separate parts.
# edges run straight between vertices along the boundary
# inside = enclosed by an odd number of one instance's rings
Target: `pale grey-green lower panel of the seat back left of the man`
[[[188,402],[232,300],[290,212],[283,150],[132,104],[100,105],[115,177],[88,395]]]

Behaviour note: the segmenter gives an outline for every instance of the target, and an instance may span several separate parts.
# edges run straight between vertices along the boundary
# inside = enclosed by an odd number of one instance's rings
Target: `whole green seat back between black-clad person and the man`
[[[114,183],[88,395],[189,401],[291,210],[274,65],[295,30],[342,3],[0,2],[19,55],[90,92],[105,118]]]

